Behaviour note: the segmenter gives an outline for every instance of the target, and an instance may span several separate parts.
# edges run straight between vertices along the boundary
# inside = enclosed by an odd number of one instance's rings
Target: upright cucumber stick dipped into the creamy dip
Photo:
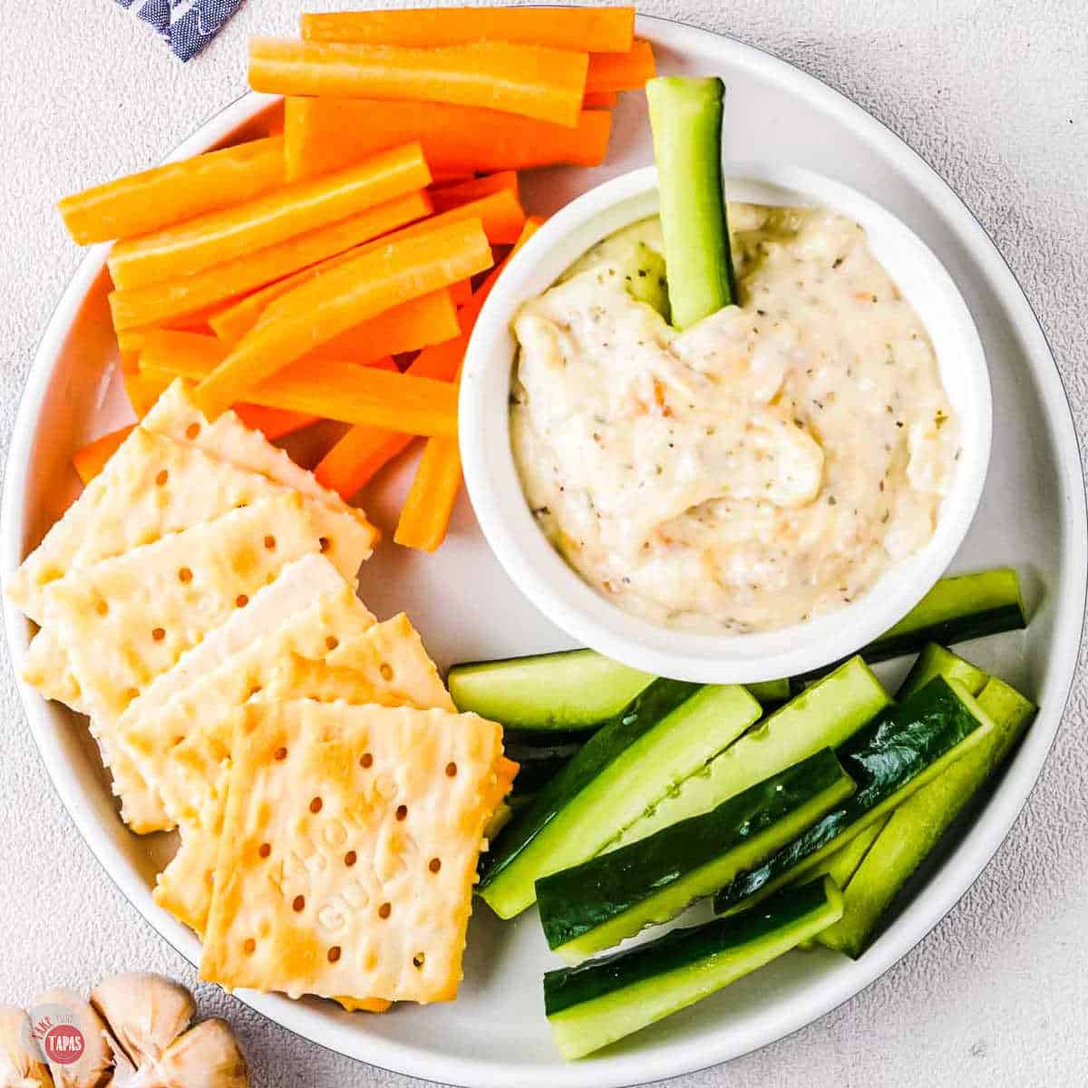
[[[717,77],[669,76],[646,84],[662,201],[672,324],[687,329],[737,297],[721,176]]]

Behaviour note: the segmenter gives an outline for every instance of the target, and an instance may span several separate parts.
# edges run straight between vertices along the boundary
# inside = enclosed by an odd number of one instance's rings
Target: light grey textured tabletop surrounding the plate
[[[447,0],[448,2],[448,0]],[[0,442],[78,252],[52,201],[161,158],[244,89],[250,33],[300,0],[249,0],[182,67],[109,0],[3,4]],[[317,4],[314,4],[317,7]],[[334,7],[324,3],[322,7]],[[341,3],[339,7],[350,7]],[[643,0],[762,46],[903,136],[976,212],[1024,285],[1088,426],[1088,23],[1083,0]],[[144,967],[194,973],[100,871],[53,795],[0,666],[0,1002]],[[1088,689],[1024,815],[970,893],[883,979],[806,1030],[675,1081],[793,1086],[1088,1080]],[[208,988],[268,1088],[417,1084],[335,1058]],[[511,1086],[512,1088],[512,1086]]]

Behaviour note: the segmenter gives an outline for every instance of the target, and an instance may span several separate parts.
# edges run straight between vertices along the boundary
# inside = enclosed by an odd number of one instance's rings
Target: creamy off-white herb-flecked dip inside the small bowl
[[[740,306],[671,329],[660,226],[638,223],[518,313],[510,407],[566,560],[628,611],[715,633],[849,604],[928,541],[959,452],[932,345],[862,228],[729,217]]]

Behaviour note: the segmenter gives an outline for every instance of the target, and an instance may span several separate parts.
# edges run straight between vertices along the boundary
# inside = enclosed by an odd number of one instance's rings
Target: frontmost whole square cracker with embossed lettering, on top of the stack
[[[452,1000],[502,751],[472,714],[247,703],[200,977]]]

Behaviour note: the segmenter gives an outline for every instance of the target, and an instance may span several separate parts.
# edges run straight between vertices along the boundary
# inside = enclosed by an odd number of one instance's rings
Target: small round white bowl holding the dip
[[[845,657],[913,608],[944,572],[970,527],[990,458],[990,380],[967,306],[930,250],[889,211],[839,182],[798,166],[727,166],[731,200],[819,205],[860,223],[934,343],[941,381],[960,418],[963,453],[928,544],[895,564],[850,605],[755,634],[697,634],[632,616],[591,589],[537,528],[521,491],[509,435],[517,351],[511,321],[591,246],[656,214],[657,172],[633,171],[553,215],[510,261],[483,308],[461,375],[460,447],[477,518],[506,572],[572,639],[625,665],[703,683],[796,676]]]

